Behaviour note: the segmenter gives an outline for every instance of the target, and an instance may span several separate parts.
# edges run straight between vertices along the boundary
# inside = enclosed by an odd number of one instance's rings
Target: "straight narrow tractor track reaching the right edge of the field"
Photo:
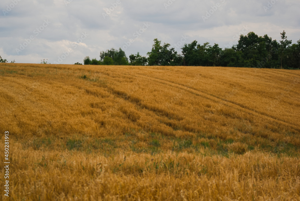
[[[176,83],[174,81],[169,81],[169,80],[165,80],[165,79],[162,79],[162,78],[157,78],[157,77],[152,77],[152,76],[149,76],[149,75],[144,75],[144,74],[141,74],[141,73],[137,73],[138,75],[142,75],[144,77],[147,77],[147,78],[150,78],[158,83],[161,83],[161,84],[167,84],[171,87],[176,87],[176,88],[179,88],[179,89],[182,89],[182,90],[185,90],[189,93],[192,93],[196,96],[200,96],[200,97],[203,97],[205,99],[208,99],[208,100],[211,100],[213,102],[217,102],[217,103],[220,103],[222,105],[226,105],[226,106],[233,106],[235,108],[241,108],[244,112],[247,112],[248,114],[256,114],[256,115],[262,115],[268,119],[271,119],[277,123],[281,123],[283,125],[288,125],[290,127],[292,127],[293,129],[297,130],[298,132],[300,132],[300,129],[299,129],[299,125],[297,124],[294,124],[294,123],[290,123],[290,122],[286,122],[282,119],[279,119],[277,117],[274,117],[272,115],[269,115],[269,114],[266,114],[264,112],[261,112],[261,111],[257,111],[253,108],[249,108],[247,107],[246,105],[243,105],[243,104],[240,104],[240,103],[237,103],[237,102],[234,102],[234,101],[230,101],[230,100],[227,100],[225,98],[221,98],[219,96],[216,96],[216,95],[213,95],[213,94],[209,94],[209,93],[206,93],[204,91],[201,91],[199,89],[196,89],[194,87],[190,87],[190,86],[187,86],[187,85],[184,85],[184,84],[180,84],[180,83]],[[134,75],[132,75],[134,76]],[[138,77],[138,76],[136,76]]]

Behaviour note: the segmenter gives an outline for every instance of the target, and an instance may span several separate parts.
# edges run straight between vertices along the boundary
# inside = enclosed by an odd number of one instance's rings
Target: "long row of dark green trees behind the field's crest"
[[[170,48],[169,43],[161,44],[154,39],[151,52],[147,57],[131,54],[129,59],[119,48],[102,51],[100,60],[84,58],[85,65],[134,65],[134,66],[222,66],[250,68],[300,68],[300,40],[292,44],[286,32],[280,33],[279,43],[267,34],[258,36],[254,32],[240,35],[237,45],[222,49],[218,44],[199,44],[196,40],[184,44],[182,54]],[[76,63],[79,64],[79,63]]]

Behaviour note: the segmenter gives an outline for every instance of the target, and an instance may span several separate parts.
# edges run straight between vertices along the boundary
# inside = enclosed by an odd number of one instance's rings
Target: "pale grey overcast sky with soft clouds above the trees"
[[[16,63],[83,63],[120,47],[146,56],[155,38],[177,52],[193,40],[231,47],[250,31],[300,39],[299,0],[1,0],[0,9],[0,55]]]

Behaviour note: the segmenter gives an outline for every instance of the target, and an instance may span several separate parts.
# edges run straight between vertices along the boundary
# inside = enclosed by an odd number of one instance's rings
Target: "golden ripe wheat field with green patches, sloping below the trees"
[[[1,199],[300,200],[299,98],[299,70],[0,64]]]

